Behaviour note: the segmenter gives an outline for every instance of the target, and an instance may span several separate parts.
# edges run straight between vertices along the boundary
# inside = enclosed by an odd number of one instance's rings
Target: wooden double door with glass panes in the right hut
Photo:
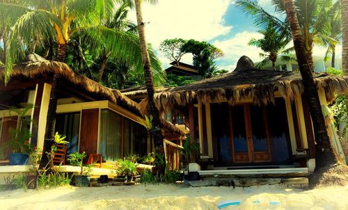
[[[266,109],[251,104],[232,106],[230,119],[233,162],[271,161]]]

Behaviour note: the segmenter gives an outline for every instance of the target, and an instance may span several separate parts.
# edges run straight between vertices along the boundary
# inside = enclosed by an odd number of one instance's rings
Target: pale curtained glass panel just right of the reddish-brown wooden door
[[[106,161],[121,158],[122,117],[107,109],[101,112],[99,154]]]

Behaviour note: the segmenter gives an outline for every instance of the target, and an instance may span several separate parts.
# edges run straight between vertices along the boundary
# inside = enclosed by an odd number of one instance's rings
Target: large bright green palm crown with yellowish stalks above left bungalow
[[[0,14],[10,14],[13,10],[22,13],[8,38],[6,79],[17,57],[17,38],[21,38],[22,45],[29,46],[37,35],[40,35],[39,44],[52,39],[56,42],[55,60],[64,61],[66,45],[74,35],[80,35],[83,42],[91,47],[111,52],[110,56],[141,69],[141,52],[136,35],[105,26],[115,13],[118,1],[121,0],[30,1],[29,6],[0,3]],[[160,65],[156,67],[161,71]]]

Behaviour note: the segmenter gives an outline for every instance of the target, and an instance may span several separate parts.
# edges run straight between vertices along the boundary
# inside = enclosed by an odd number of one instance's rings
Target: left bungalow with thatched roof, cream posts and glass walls
[[[86,76],[75,74],[68,65],[50,60],[15,65],[6,86],[0,69],[0,145],[9,139],[9,129],[31,130],[31,144],[44,145],[52,77],[58,74],[56,131],[67,136],[67,153],[101,154],[105,161],[115,161],[128,154],[141,156],[152,152],[154,144],[136,102],[119,90],[106,88]],[[18,128],[18,114],[10,111],[32,104],[25,113],[29,124]],[[182,131],[162,120],[166,134],[175,138]],[[6,156],[8,154],[4,154]]]

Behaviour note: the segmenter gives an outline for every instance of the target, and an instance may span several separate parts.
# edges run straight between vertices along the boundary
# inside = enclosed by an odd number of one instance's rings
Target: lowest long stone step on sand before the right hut
[[[308,186],[307,177],[296,178],[205,178],[199,181],[187,181],[193,187],[200,186],[259,186],[266,184],[285,184],[287,187],[306,188]]]

